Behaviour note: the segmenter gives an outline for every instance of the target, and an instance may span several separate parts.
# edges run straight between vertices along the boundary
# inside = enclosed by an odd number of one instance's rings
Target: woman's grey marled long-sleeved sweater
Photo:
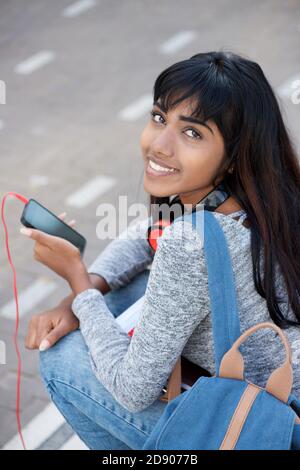
[[[242,217],[234,220],[240,213]],[[250,230],[242,225],[243,211],[213,214],[228,243],[243,332],[256,323],[271,321],[266,301],[256,292],[252,279]],[[177,221],[164,230],[153,256],[145,237],[149,222],[150,218],[129,226],[88,268],[89,273],[103,276],[113,290],[128,284],[152,263],[133,337],[123,332],[97,289],[81,292],[72,303],[96,376],[131,412],[142,411],[159,398],[180,354],[215,373],[207,269],[200,236],[189,222]],[[176,230],[183,236],[176,236]],[[286,295],[278,273],[276,279],[279,292]],[[285,313],[294,318],[287,302],[285,306]],[[300,328],[285,331],[293,352],[293,393],[300,397]],[[261,386],[284,360],[284,348],[270,330],[255,333],[240,350],[246,377]]]

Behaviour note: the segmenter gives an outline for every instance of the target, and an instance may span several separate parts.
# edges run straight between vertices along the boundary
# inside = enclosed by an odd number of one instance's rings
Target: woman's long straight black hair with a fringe
[[[248,215],[255,288],[278,326],[300,325],[300,166],[275,94],[257,63],[220,50],[193,55],[157,77],[153,101],[166,112],[189,98],[197,103],[193,115],[212,119],[224,139],[220,174]],[[150,195],[150,211],[165,203],[169,197]],[[277,268],[296,321],[280,308]]]

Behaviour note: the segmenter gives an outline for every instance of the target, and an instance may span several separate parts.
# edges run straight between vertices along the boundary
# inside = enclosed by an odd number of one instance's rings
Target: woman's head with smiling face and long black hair
[[[170,204],[170,194],[196,204],[226,181],[231,197],[216,212],[246,211],[257,292],[278,325],[293,324],[276,299],[276,260],[300,320],[299,161],[262,69],[230,51],[199,53],[164,70],[153,95],[152,119],[140,139],[150,210]],[[151,161],[177,171],[161,181],[157,167],[150,171]],[[280,233],[274,233],[279,224]]]

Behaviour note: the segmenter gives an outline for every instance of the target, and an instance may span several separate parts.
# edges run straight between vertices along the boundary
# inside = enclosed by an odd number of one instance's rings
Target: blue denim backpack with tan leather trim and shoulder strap
[[[291,350],[286,335],[271,322],[240,334],[234,275],[222,228],[207,210],[182,217],[198,231],[204,223],[216,374],[198,378],[167,404],[143,449],[300,450],[300,400],[291,394]],[[238,350],[261,328],[272,328],[286,351],[284,364],[271,373],[265,388],[244,378]]]

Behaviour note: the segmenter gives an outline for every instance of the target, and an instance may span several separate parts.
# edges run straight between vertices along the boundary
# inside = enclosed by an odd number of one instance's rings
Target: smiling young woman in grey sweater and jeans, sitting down
[[[230,188],[213,214],[232,259],[241,332],[263,321],[286,329],[300,397],[300,168],[261,68],[223,51],[168,67],[155,82],[140,143],[152,203],[171,204],[177,195],[184,208],[194,207],[220,182]],[[26,345],[43,350],[51,399],[91,449],[142,448],[180,355],[215,373],[200,235],[189,225],[178,237],[184,222],[177,221],[154,256],[145,236],[151,221],[112,241],[88,271],[68,242],[31,232],[36,259],[66,279],[72,294],[31,321]],[[144,293],[130,338],[115,317]],[[267,330],[241,350],[247,377],[262,386],[284,360]]]

